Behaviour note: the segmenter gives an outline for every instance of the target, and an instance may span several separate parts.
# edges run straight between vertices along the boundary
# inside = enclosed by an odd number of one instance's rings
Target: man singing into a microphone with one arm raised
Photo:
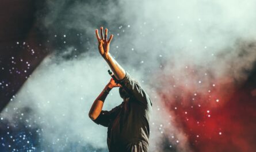
[[[105,29],[104,36],[102,27],[101,38],[98,35],[98,29],[95,33],[98,39],[98,50],[112,69],[117,81],[110,79],[91,106],[89,117],[95,123],[108,127],[107,143],[110,152],[147,152],[150,136],[149,122],[152,115],[150,96],[109,53],[113,34],[107,40],[108,29]],[[123,102],[110,111],[102,110],[106,96],[114,87],[119,87]]]

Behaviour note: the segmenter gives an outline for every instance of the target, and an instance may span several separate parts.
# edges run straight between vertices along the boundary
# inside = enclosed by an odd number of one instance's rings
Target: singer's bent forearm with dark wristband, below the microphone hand
[[[110,91],[112,88],[109,88],[108,85],[104,88],[107,91]],[[103,104],[105,102],[106,96],[108,96],[108,93],[104,92],[104,89],[101,91],[100,95],[94,100],[93,105],[91,106],[89,117],[91,119],[96,119],[98,115],[100,115]]]

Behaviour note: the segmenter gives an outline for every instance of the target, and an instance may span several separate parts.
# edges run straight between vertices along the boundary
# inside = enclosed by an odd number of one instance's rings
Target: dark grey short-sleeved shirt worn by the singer
[[[110,111],[102,110],[93,121],[108,127],[107,144],[110,152],[131,151],[134,147],[147,151],[152,115],[150,96],[127,72],[120,84],[131,95],[129,101],[126,104],[122,102]]]

